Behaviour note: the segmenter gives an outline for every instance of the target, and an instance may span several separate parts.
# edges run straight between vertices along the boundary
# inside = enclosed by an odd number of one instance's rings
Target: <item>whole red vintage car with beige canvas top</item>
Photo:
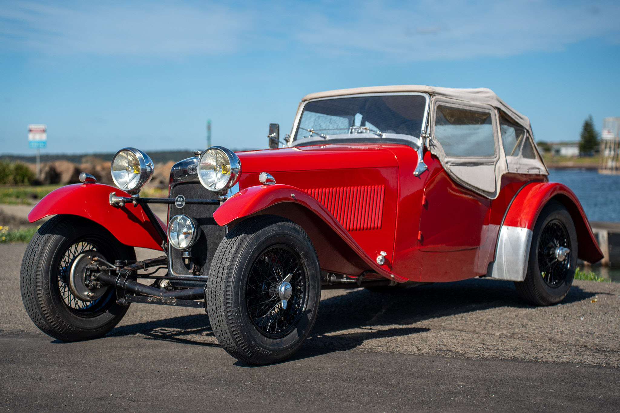
[[[56,216],[21,269],[32,321],[76,341],[130,303],[195,306],[229,354],[264,364],[301,347],[324,288],[489,277],[551,305],[578,258],[602,258],[575,194],[547,180],[528,118],[489,89],[312,93],[284,147],[277,124],[268,137],[265,150],[197,150],[170,170],[169,198],[139,196],[153,162],[133,148],[112,162],[120,189],[82,174],[43,198],[30,221]],[[165,255],[136,261],[134,247]]]

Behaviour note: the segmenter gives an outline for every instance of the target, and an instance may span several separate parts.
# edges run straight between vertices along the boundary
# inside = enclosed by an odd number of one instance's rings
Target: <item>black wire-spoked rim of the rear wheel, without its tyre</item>
[[[570,252],[560,261],[557,259],[556,250],[558,247],[570,250],[570,238],[564,224],[558,219],[553,219],[542,228],[540,241],[538,243],[538,266],[542,280],[549,287],[557,287],[562,284],[569,275]]]

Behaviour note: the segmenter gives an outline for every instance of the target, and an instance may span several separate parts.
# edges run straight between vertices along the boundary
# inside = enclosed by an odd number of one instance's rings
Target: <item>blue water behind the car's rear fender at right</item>
[[[588,220],[620,222],[620,175],[600,175],[585,169],[552,169],[549,181],[572,189]]]

